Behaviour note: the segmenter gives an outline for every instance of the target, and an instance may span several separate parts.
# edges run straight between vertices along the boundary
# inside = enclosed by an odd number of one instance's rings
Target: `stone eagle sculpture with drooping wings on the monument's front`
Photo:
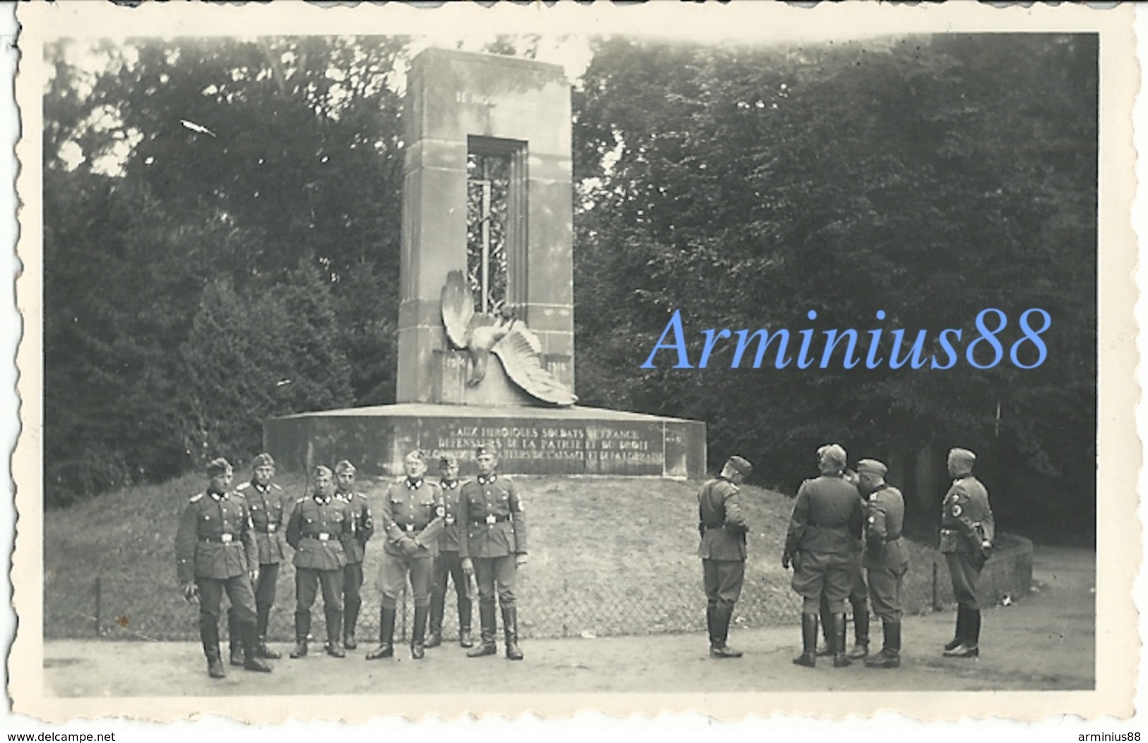
[[[492,324],[487,322],[491,317]],[[468,387],[482,381],[494,354],[511,381],[532,397],[554,405],[577,402],[577,396],[542,365],[542,342],[510,308],[503,305],[494,316],[474,311],[474,294],[461,271],[447,274],[442,287],[442,324],[451,346],[470,356]]]

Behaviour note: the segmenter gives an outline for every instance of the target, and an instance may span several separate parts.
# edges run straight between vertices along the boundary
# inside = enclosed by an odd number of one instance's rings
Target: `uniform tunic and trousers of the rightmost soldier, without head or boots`
[[[979,610],[977,580],[996,535],[988,492],[971,474],[953,480],[940,513],[940,551],[953,580],[953,597],[965,609]],[[988,542],[988,547],[984,543]]]

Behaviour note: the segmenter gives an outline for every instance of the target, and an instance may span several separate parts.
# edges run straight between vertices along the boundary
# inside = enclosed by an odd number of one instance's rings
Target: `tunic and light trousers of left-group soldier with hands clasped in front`
[[[432,572],[444,513],[442,492],[425,478],[404,478],[387,489],[379,517],[387,534],[378,582],[383,609],[397,606],[408,575],[414,605],[430,605]]]

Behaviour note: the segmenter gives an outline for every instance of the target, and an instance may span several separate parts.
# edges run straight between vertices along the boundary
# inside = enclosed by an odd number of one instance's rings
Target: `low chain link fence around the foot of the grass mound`
[[[1031,580],[1031,543],[1027,543],[1027,575],[1023,560],[998,555],[982,580],[990,603],[1017,581]],[[1017,566],[1019,565],[1019,567]],[[666,580],[625,580],[625,572],[611,575],[569,574],[561,580],[540,580],[529,570],[519,573],[517,595],[519,632],[522,637],[603,637],[690,633],[705,629],[705,596],[701,571],[692,581],[667,575]],[[369,570],[367,574],[371,574]],[[797,624],[801,599],[790,588],[789,573],[770,572],[751,564],[737,603],[735,625],[762,627]],[[1010,582],[1011,581],[1011,582]],[[473,594],[473,582],[472,594]],[[224,602],[226,603],[226,601]],[[940,555],[922,549],[906,575],[902,604],[908,614],[937,611],[953,603],[948,571]],[[443,636],[457,637],[458,613],[453,589],[445,601]],[[380,595],[369,578],[363,586],[363,607],[357,636],[371,643],[379,633]],[[412,624],[412,601],[404,593],[396,641],[406,641]],[[271,613],[269,640],[294,641],[294,571],[285,565]],[[321,596],[311,610],[315,638],[326,637]],[[100,575],[90,582],[65,585],[45,580],[45,635],[47,637],[103,637],[142,641],[197,640],[197,609],[184,601],[173,582],[155,578]],[[473,630],[479,629],[476,595],[473,599]],[[220,630],[226,635],[225,620]]]

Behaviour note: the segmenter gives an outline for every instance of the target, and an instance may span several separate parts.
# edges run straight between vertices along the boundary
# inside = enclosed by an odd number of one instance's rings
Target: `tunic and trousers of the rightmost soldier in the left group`
[[[515,555],[526,555],[526,508],[514,483],[491,473],[466,482],[459,493],[459,513],[466,523],[459,529],[458,556],[470,557],[479,587],[479,603],[515,605]]]

